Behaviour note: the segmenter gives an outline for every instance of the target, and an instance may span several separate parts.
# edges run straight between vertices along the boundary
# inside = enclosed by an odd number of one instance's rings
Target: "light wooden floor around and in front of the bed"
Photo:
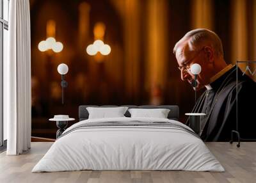
[[[0,154],[0,182],[256,182],[256,143],[207,143],[225,172],[195,171],[65,171],[31,173],[31,169],[51,147],[51,142],[34,142],[22,155]]]

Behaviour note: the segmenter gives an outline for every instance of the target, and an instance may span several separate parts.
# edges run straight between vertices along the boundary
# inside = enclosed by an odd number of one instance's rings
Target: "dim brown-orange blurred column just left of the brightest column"
[[[140,1],[124,2],[125,92],[137,104],[140,95]]]

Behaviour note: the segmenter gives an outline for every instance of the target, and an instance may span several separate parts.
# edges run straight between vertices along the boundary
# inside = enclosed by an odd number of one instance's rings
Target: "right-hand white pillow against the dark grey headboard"
[[[167,118],[170,109],[128,109],[131,118]]]

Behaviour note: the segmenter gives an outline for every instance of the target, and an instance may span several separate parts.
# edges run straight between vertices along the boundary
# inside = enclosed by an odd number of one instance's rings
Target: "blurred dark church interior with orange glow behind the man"
[[[79,9],[84,3],[89,8],[86,15]],[[180,80],[172,49],[191,29],[215,31],[227,63],[256,60],[255,1],[31,0],[30,8],[32,136],[55,138],[56,124],[48,119],[60,114],[77,119],[81,104],[175,104],[184,122],[194,92]],[[64,46],[59,53],[38,50],[38,43],[49,36],[49,20],[56,23],[54,38]],[[102,39],[111,46],[108,56],[86,53],[95,40],[97,22],[106,26]],[[81,31],[83,25],[86,29]],[[60,63],[69,68],[64,105]]]

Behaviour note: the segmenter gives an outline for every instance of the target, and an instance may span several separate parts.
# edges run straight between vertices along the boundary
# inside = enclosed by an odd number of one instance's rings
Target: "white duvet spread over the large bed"
[[[102,118],[92,122],[171,122],[163,118]],[[165,127],[95,127],[59,138],[32,172],[72,170],[225,171],[200,138]]]

